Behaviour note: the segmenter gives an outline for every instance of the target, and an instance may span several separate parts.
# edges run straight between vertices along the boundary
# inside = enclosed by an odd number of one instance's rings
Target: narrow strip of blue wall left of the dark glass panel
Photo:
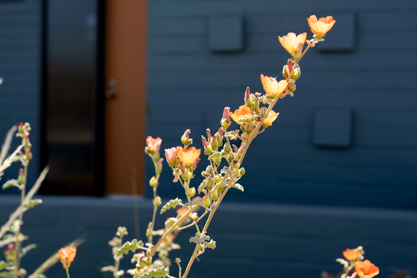
[[[40,2],[0,2],[0,76],[4,79],[0,85],[0,141],[3,143],[3,135],[13,125],[20,122],[32,125],[34,159],[28,172],[30,185],[38,176],[40,158]],[[19,144],[20,140],[14,138],[13,147]],[[17,166],[5,173],[7,178],[17,175]],[[5,192],[12,191],[15,190]]]

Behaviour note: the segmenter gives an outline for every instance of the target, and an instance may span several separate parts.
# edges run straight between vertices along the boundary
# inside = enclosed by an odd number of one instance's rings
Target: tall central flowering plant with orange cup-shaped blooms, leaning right
[[[332,28],[335,20],[332,17],[317,20],[316,16],[312,15],[308,18],[308,23],[311,31],[314,33],[311,40],[306,40],[307,33],[299,35],[288,33],[282,38],[278,37],[281,45],[292,56],[284,65],[282,71],[284,79],[277,80],[274,77],[261,74],[261,83],[265,94],[253,94],[250,92],[249,87],[246,88],[244,104],[234,110],[234,112],[231,112],[229,107],[225,107],[220,120],[219,130],[212,136],[211,130],[207,129],[207,138],[201,135],[203,150],[190,147],[193,144],[193,139],[189,136],[191,134],[189,129],[181,136],[183,146],[165,149],[166,162],[173,172],[173,182],[181,184],[187,200],[183,202],[180,198],[175,198],[162,206],[161,214],[177,206],[180,208],[177,210],[177,217],[167,218],[163,228],[158,230],[155,230],[155,216],[158,207],[161,205],[161,198],[156,193],[162,171],[163,158],[160,157],[159,153],[162,139],[159,137],[152,138],[151,136],[146,138],[147,146],[145,153],[152,159],[155,168],[155,175],[149,180],[149,185],[153,188],[153,217],[146,230],[148,242],[143,243],[141,240],[133,239],[122,244],[122,238],[124,235],[127,235],[127,231],[126,228],[119,227],[116,234],[118,237],[113,238],[109,242],[109,245],[113,247],[112,253],[115,264],[102,268],[103,271],[113,272],[114,277],[123,275],[124,271],[119,270],[119,261],[123,258],[123,254],[128,254],[132,251],[133,258],[131,262],[135,263],[136,267],[127,270],[127,272],[133,275],[133,278],[173,278],[174,276],[170,274],[171,260],[169,260],[168,255],[171,250],[179,248],[178,244],[173,243],[173,241],[179,232],[192,226],[196,228],[196,234],[189,241],[190,243],[195,243],[196,247],[183,274],[181,259],[175,259],[178,265],[179,278],[187,277],[194,260],[198,259],[198,256],[205,252],[207,248],[216,248],[216,241],[207,234],[208,226],[214,213],[230,188],[244,191],[243,186],[237,182],[245,174],[242,162],[249,146],[254,138],[271,126],[278,117],[279,113],[272,110],[276,102],[286,95],[294,95],[296,80],[301,75],[299,61],[309,48],[324,40],[323,37]],[[306,48],[303,51],[305,44]],[[261,107],[261,103],[268,106]],[[240,130],[228,131],[231,126],[231,120],[240,125]],[[230,143],[230,140],[236,139],[241,140],[239,147]],[[196,165],[201,161],[200,155],[202,151],[207,155],[209,164],[206,170],[201,172],[203,180],[200,185],[192,186],[191,181],[196,176],[194,171],[196,170]],[[202,195],[196,195],[197,193]],[[200,208],[203,209],[203,212],[198,215],[197,210]],[[206,223],[200,228],[198,223],[207,214]],[[156,242],[154,241],[154,236],[159,236]],[[136,253],[136,250],[141,252]],[[352,254],[349,253],[352,265],[353,262],[362,263],[357,259],[360,253],[358,252],[354,259]],[[367,272],[365,269],[367,267],[368,265],[358,265],[358,269],[363,268],[363,273]],[[350,268],[350,271],[352,266],[348,265],[348,268]],[[361,272],[357,270],[357,273],[359,275]],[[371,278],[372,276],[360,277]],[[346,275],[343,278],[346,278]]]

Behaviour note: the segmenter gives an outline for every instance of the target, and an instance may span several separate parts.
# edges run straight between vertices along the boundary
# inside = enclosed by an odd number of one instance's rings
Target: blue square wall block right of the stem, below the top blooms
[[[351,110],[314,112],[313,143],[321,148],[349,148],[352,145]]]

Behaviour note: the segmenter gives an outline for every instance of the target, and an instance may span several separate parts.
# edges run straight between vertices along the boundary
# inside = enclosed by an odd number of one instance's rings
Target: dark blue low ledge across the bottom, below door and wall
[[[38,197],[43,204],[29,210],[23,219],[22,231],[29,235],[27,243],[39,245],[23,259],[28,272],[60,246],[87,233],[88,241],[78,248],[77,263],[71,268],[74,275],[90,273],[88,277],[97,277],[97,269],[112,261],[107,242],[117,227],[128,228],[126,240],[143,239],[152,216],[150,200],[136,198],[140,233],[135,235],[131,196]],[[18,196],[0,196],[0,223],[7,220],[18,203]],[[175,214],[174,210],[158,214],[156,228],[162,228],[164,220]],[[176,242],[182,249],[173,251],[171,257],[188,260],[193,250],[188,239],[193,233],[191,229],[178,235]],[[239,277],[263,275],[274,269],[291,277],[319,277],[321,270],[338,272],[340,267],[334,260],[342,256],[344,249],[358,245],[364,246],[365,258],[379,266],[380,277],[389,277],[399,268],[417,273],[415,211],[224,202],[208,235],[218,244],[216,250],[205,252],[199,257],[201,263],[193,266],[198,277],[226,277],[231,265],[248,270],[239,272]],[[130,256],[126,257],[122,265],[131,268]],[[204,276],[209,265],[210,275]],[[172,268],[175,273],[176,266]],[[46,275],[60,277],[61,272],[55,265]]]

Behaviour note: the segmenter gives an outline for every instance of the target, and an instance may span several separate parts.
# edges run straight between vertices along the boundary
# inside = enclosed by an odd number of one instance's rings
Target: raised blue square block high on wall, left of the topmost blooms
[[[213,17],[210,20],[210,50],[241,52],[243,50],[243,17]]]

